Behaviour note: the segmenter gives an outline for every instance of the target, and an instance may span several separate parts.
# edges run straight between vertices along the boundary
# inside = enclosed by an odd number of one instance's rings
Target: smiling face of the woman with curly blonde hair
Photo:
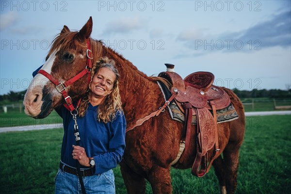
[[[91,95],[95,98],[103,99],[113,91],[113,84],[116,79],[115,74],[109,68],[102,67],[94,75],[91,83]]]

